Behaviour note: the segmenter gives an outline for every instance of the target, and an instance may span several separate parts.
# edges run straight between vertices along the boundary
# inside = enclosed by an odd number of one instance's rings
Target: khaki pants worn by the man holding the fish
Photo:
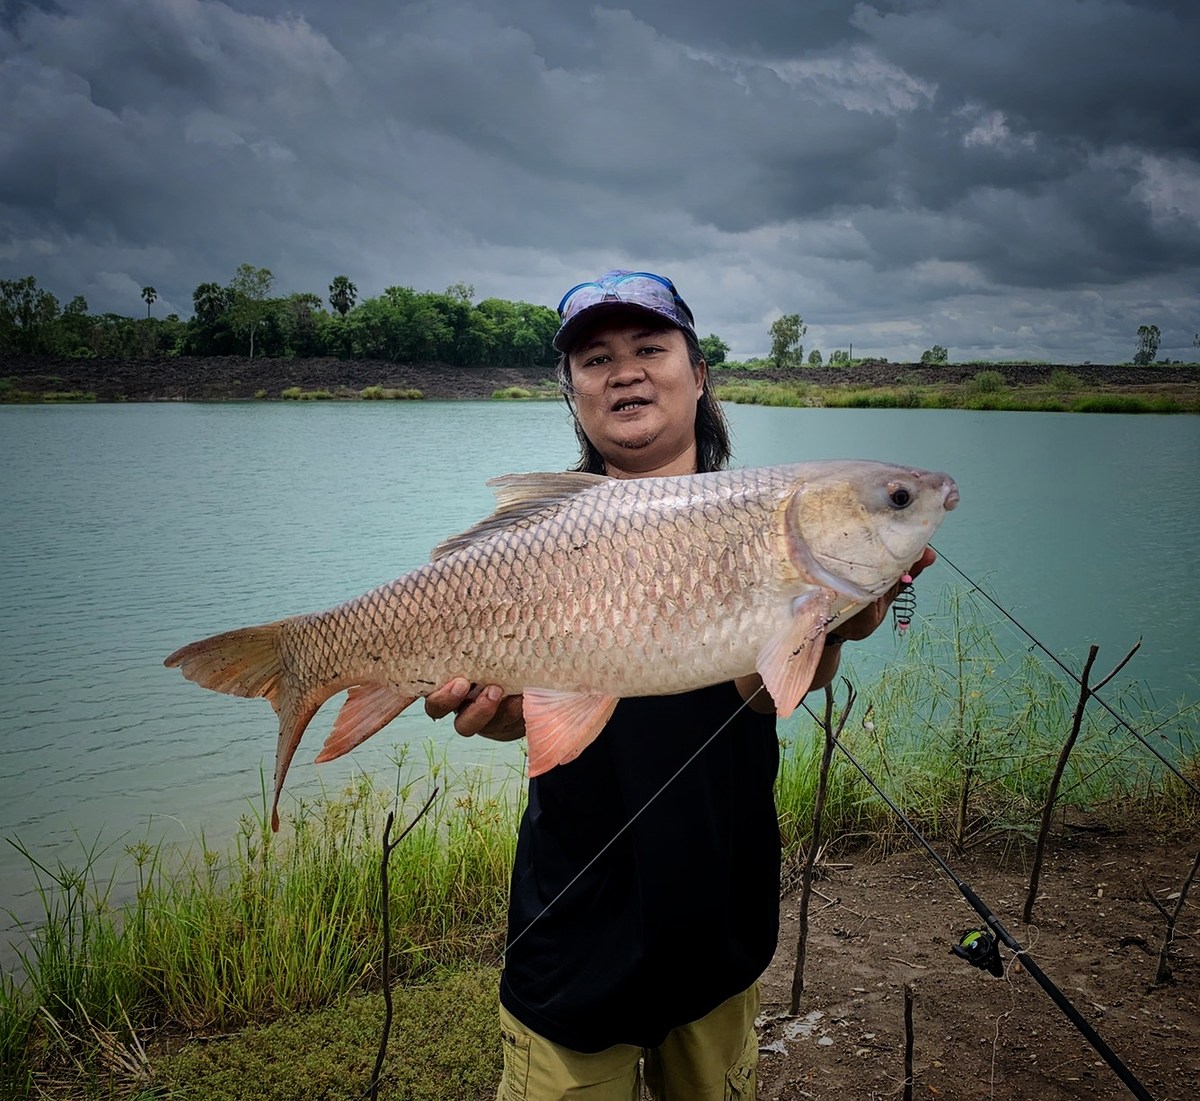
[[[758,987],[674,1029],[661,1047],[620,1043],[594,1055],[529,1031],[500,1006],[504,1077],[497,1101],[638,1101],[640,1079],[656,1101],[754,1101]]]

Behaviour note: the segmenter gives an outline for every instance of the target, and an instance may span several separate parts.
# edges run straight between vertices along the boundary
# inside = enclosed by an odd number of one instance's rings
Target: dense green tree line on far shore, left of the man
[[[66,306],[34,276],[0,279],[0,355],[139,357],[155,355],[332,356],[452,366],[551,366],[558,315],[547,306],[484,299],[455,283],[442,293],[389,287],[359,301],[342,275],[328,297],[278,295],[266,267],[242,264],[227,283],[200,283],[193,314],[92,314],[82,295]],[[329,308],[326,309],[326,302]]]

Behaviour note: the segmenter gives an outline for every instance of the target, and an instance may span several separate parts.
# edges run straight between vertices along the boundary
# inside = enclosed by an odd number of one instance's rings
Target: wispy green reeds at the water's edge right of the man
[[[983,602],[950,591],[914,621],[882,672],[859,690],[842,741],[917,826],[964,844],[980,831],[1031,835],[1063,740],[1078,688],[1025,648],[1003,648]],[[1114,655],[1114,663],[1121,655]],[[846,672],[846,670],[844,670]],[[857,682],[853,669],[850,679]],[[844,703],[838,687],[835,706]],[[1200,704],[1159,710],[1136,686],[1105,698],[1169,757],[1195,768]],[[785,850],[811,832],[812,794],[823,732],[820,697],[806,700],[782,739],[776,801]],[[815,717],[814,717],[815,716]],[[1168,740],[1163,732],[1174,735]],[[1187,789],[1094,704],[1072,753],[1060,806],[1091,807],[1138,800],[1188,811]],[[906,843],[905,828],[857,770],[835,754],[823,834],[866,840],[881,850]]]

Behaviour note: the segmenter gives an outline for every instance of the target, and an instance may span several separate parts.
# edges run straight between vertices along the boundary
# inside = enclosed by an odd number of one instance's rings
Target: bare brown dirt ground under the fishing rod
[[[1200,1089],[1200,886],[1176,926],[1174,982],[1154,986],[1164,922],[1142,885],[1174,907],[1196,843],[1130,824],[1068,825],[1048,853],[1031,925],[1020,920],[1031,844],[937,849],[1158,1101]],[[763,1101],[904,1096],[906,983],[914,1099],[1136,1096],[1010,951],[1001,947],[1003,977],[952,953],[964,932],[985,925],[926,854],[829,862],[814,883],[796,1017],[787,1010],[798,872],[781,908],[779,950],[763,979]]]

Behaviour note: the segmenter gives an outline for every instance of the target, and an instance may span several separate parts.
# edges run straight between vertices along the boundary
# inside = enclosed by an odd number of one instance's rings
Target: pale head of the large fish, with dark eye
[[[916,562],[959,503],[954,479],[888,463],[802,464],[787,501],[793,565],[856,601],[882,595]]]

